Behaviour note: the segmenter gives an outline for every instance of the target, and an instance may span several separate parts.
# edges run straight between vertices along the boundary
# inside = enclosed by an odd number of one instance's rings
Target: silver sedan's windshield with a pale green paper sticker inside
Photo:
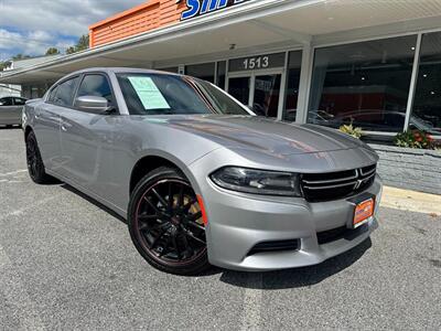
[[[249,115],[224,92],[201,79],[154,73],[117,77],[131,115]]]

